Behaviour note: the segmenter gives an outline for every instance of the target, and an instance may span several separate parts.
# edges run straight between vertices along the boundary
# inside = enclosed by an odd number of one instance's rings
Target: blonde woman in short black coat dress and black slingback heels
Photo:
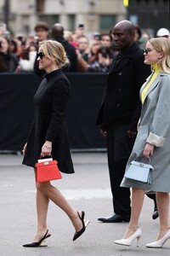
[[[39,69],[46,71],[45,78],[34,96],[35,118],[26,145],[23,164],[34,167],[40,156],[52,155],[58,161],[60,172],[73,173],[68,133],[65,125],[65,108],[69,99],[70,84],[60,68],[69,64],[65,49],[56,41],[41,42],[37,53]],[[75,241],[85,231],[89,221],[85,213],[77,212],[50,182],[37,186],[37,234],[24,247],[39,247],[51,236],[47,228],[48,202],[53,201],[71,219],[76,230]]]

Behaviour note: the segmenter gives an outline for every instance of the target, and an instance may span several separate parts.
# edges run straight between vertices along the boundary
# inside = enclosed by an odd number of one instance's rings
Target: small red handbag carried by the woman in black
[[[54,179],[62,178],[57,166],[57,161],[50,159],[38,160],[36,164],[36,182],[42,183]]]

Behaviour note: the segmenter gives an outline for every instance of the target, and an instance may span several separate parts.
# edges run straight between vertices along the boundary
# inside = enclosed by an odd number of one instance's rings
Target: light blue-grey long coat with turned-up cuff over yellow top
[[[151,75],[141,87],[140,96],[150,78]],[[138,135],[127,161],[127,168],[132,160],[143,154],[146,143],[155,145],[154,155],[150,159],[150,164],[154,167],[152,184],[123,177],[121,186],[170,192],[170,74],[167,73],[158,73],[146,93]]]

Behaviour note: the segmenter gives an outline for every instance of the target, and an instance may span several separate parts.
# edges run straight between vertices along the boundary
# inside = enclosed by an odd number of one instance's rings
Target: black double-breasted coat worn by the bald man
[[[141,111],[139,90],[149,75],[150,66],[144,64],[144,51],[133,43],[120,61],[112,63],[96,125],[125,121],[129,129],[136,131]]]

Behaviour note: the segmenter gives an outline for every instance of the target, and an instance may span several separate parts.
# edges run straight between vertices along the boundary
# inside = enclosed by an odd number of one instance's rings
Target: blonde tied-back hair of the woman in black
[[[46,57],[52,61],[56,61],[59,68],[70,64],[65,48],[59,42],[54,40],[42,41],[39,42],[39,47],[41,47],[43,54]]]

